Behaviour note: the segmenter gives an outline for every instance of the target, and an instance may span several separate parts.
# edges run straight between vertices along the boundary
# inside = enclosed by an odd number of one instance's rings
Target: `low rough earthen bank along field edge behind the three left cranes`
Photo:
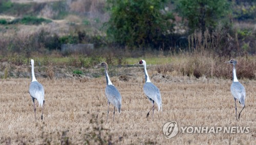
[[[147,72],[152,82],[177,82],[177,83],[197,83],[197,82],[212,82],[219,81],[218,79],[207,79],[201,77],[173,76],[172,74],[159,74],[155,69],[155,65],[148,65]],[[30,65],[14,65],[9,62],[0,63],[0,78],[5,78],[5,71],[8,70],[10,78],[31,78]],[[74,74],[74,70],[81,70],[82,74]],[[35,77],[51,79],[78,79],[80,82],[87,82],[93,78],[104,77],[104,69],[96,67],[75,67],[67,65],[59,66],[35,66]],[[143,66],[110,66],[108,74],[112,82],[145,82]]]

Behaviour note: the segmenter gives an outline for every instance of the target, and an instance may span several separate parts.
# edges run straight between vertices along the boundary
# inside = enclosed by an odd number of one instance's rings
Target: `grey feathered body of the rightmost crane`
[[[233,82],[230,87],[231,93],[235,99],[238,99],[240,104],[245,106],[245,88],[240,82]]]

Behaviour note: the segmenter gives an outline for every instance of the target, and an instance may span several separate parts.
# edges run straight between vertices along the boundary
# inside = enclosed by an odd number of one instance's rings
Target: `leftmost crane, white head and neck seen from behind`
[[[32,66],[32,82],[30,83],[29,86],[29,94],[31,95],[32,101],[34,103],[34,112],[35,112],[35,99],[38,101],[39,106],[42,107],[42,114],[44,113],[44,105],[45,105],[45,91],[44,87],[37,82],[35,79],[35,74],[34,74],[34,60],[31,59],[31,66]],[[41,119],[42,119],[42,114],[41,114]],[[36,115],[35,115],[35,120],[36,120]]]

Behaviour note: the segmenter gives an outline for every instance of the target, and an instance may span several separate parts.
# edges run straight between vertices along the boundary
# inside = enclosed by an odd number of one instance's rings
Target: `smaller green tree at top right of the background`
[[[176,4],[179,15],[188,20],[190,32],[212,31],[230,13],[227,0],[177,0]]]

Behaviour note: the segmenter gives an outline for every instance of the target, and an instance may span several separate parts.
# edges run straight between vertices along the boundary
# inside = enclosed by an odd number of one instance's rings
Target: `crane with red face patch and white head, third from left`
[[[144,65],[144,73],[145,73],[145,84],[143,86],[143,90],[145,95],[147,96],[147,98],[152,102],[153,106],[150,109],[153,110],[153,114],[152,117],[154,117],[154,110],[155,110],[155,102],[157,103],[158,106],[158,111],[161,109],[161,111],[163,112],[163,107],[162,107],[162,99],[161,99],[161,94],[160,94],[160,90],[158,89],[157,86],[155,86],[151,81],[150,81],[150,77],[148,77],[147,74],[147,70],[146,70],[146,61],[145,60],[140,60],[138,63],[136,64],[142,64]],[[146,117],[148,117],[148,115],[150,115],[150,111],[148,111]]]

